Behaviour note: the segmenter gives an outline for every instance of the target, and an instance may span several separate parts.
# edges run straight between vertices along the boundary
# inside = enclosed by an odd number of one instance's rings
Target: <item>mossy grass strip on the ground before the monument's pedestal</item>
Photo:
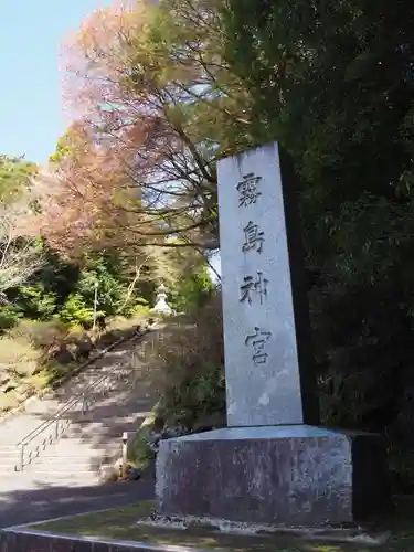
[[[306,541],[291,535],[237,535],[216,533],[212,529],[191,528],[187,530],[162,529],[136,526],[139,519],[148,517],[153,502],[139,502],[127,508],[77,516],[57,521],[32,526],[33,530],[60,534],[100,537],[115,540],[139,541],[152,544],[197,546],[223,552],[408,552],[414,550],[414,523],[411,520],[413,501],[399,505],[386,528],[392,537],[385,544],[321,543]]]

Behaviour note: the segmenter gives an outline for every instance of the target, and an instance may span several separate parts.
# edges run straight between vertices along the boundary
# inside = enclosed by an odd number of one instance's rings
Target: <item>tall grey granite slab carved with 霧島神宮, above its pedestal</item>
[[[277,145],[217,172],[227,424],[317,424],[296,202]]]

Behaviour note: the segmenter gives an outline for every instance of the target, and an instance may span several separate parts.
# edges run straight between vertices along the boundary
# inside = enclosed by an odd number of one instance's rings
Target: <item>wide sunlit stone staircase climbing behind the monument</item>
[[[0,489],[98,484],[100,465],[121,455],[123,432],[136,431],[153,405],[142,351],[157,338],[156,330],[117,346],[53,394],[30,401],[25,412],[0,422]],[[104,383],[95,390],[99,379]],[[60,415],[59,427],[67,428],[56,438],[56,422],[47,421],[88,386],[87,412],[82,412],[83,402],[78,401]],[[15,471],[21,455],[21,447],[15,445],[42,423],[45,429],[25,446],[25,455],[40,446],[39,456],[23,471]]]

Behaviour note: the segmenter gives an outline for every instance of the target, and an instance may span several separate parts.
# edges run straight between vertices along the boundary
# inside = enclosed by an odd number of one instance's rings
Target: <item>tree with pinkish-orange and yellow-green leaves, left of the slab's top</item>
[[[248,145],[246,94],[231,86],[220,52],[219,3],[113,6],[66,44],[76,123],[52,156],[57,241],[217,247],[216,159]]]

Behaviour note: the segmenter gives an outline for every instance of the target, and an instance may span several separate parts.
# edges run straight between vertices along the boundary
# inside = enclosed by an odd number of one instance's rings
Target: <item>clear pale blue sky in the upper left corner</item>
[[[109,2],[105,2],[109,3]],[[0,0],[0,155],[45,162],[67,121],[60,45],[99,0]]]

